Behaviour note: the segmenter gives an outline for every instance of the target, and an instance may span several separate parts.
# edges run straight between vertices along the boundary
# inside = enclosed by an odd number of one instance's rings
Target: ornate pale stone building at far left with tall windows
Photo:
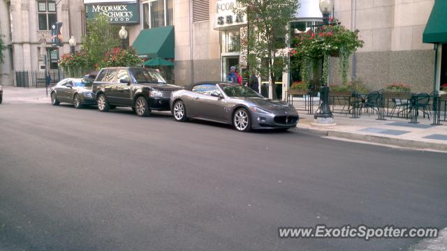
[[[51,25],[62,22],[61,47],[52,47]],[[70,52],[68,39],[80,41],[85,31],[82,0],[0,1],[0,34],[6,42],[0,82],[17,85],[15,72],[57,72],[59,56]]]

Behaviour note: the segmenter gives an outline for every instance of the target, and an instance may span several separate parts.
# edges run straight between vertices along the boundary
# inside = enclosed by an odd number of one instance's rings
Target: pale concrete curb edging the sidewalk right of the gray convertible
[[[376,136],[376,135],[360,135],[353,132],[338,132],[335,130],[318,130],[312,128],[299,128],[298,132],[308,132],[314,135],[324,137],[340,137],[344,139],[358,140],[362,142],[372,142],[378,144],[387,144],[391,146],[401,146],[406,148],[416,149],[432,149],[437,151],[447,151],[447,144],[435,143],[435,142],[421,142],[413,139],[396,139],[390,137]]]

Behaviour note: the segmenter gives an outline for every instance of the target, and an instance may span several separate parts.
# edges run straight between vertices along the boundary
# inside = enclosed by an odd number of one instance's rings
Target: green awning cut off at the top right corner
[[[423,33],[423,43],[447,43],[447,0],[434,0]]]

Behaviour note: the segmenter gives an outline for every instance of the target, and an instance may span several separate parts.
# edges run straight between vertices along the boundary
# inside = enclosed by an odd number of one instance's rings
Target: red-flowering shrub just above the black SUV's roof
[[[116,47],[105,53],[104,63],[105,67],[138,66],[142,59],[136,55],[135,50]]]

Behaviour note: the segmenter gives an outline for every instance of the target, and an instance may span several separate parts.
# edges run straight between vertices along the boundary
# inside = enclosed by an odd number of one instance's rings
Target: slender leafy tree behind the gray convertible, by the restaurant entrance
[[[249,47],[250,71],[268,76],[269,98],[276,99],[274,82],[288,70],[288,22],[298,9],[297,0],[237,0],[242,8],[237,15],[247,15],[249,31],[241,38]],[[260,63],[261,61],[261,63]],[[265,66],[263,66],[263,62]]]

